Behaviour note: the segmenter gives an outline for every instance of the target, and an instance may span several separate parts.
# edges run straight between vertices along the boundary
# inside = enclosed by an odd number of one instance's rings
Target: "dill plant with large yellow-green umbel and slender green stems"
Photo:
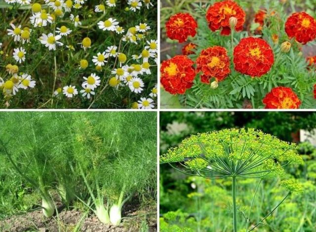
[[[232,179],[233,228],[237,232],[237,179],[259,179],[248,217],[246,232],[254,230],[270,216],[291,192],[301,192],[302,187],[286,178],[284,166],[302,164],[296,145],[281,141],[275,136],[254,129],[225,129],[191,135],[178,147],[160,156],[160,164],[169,163],[178,171],[206,179]],[[173,163],[178,163],[180,167]],[[286,196],[260,222],[249,229],[252,204],[258,186],[265,178],[282,178],[281,186],[288,190]]]

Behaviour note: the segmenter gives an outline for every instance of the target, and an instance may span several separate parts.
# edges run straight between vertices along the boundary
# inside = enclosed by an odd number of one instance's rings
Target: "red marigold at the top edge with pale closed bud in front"
[[[231,33],[231,28],[229,26],[230,17],[237,18],[235,30],[237,32],[242,31],[242,27],[245,22],[245,16],[246,14],[243,9],[232,0],[215,2],[208,8],[206,12],[208,27],[213,32],[222,29],[222,35],[229,35]]]

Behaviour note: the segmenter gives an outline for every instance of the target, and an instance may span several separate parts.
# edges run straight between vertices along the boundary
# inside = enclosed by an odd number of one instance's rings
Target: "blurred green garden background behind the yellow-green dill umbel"
[[[316,231],[316,151],[308,141],[300,142],[300,130],[316,128],[315,112],[160,112],[160,154],[178,145],[190,134],[224,128],[251,127],[299,143],[302,166],[288,166],[287,173],[303,185],[303,194],[292,194],[259,226],[260,232]],[[245,231],[245,215],[258,180],[240,180],[237,185],[238,230]],[[279,179],[260,186],[250,225],[260,221],[284,197]],[[231,232],[231,179],[206,180],[190,177],[160,165],[161,232]],[[251,226],[250,226],[251,228]]]

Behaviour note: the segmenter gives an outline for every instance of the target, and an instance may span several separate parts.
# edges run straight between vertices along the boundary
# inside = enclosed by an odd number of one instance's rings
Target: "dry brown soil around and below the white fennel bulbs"
[[[84,232],[157,232],[157,215],[155,208],[140,209],[137,201],[125,205],[122,222],[116,227],[102,224],[94,215],[87,215],[81,230]],[[84,215],[78,210],[63,209],[58,217],[45,218],[41,210],[15,215],[0,221],[0,232],[73,232]],[[146,220],[145,220],[145,215]],[[59,220],[57,220],[59,218]],[[147,224],[147,226],[144,226]]]

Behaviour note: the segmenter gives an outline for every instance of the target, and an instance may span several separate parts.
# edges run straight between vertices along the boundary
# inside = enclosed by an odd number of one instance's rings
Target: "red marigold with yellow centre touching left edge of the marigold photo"
[[[187,56],[178,55],[163,61],[160,67],[160,82],[170,94],[184,94],[193,85],[196,70]]]

